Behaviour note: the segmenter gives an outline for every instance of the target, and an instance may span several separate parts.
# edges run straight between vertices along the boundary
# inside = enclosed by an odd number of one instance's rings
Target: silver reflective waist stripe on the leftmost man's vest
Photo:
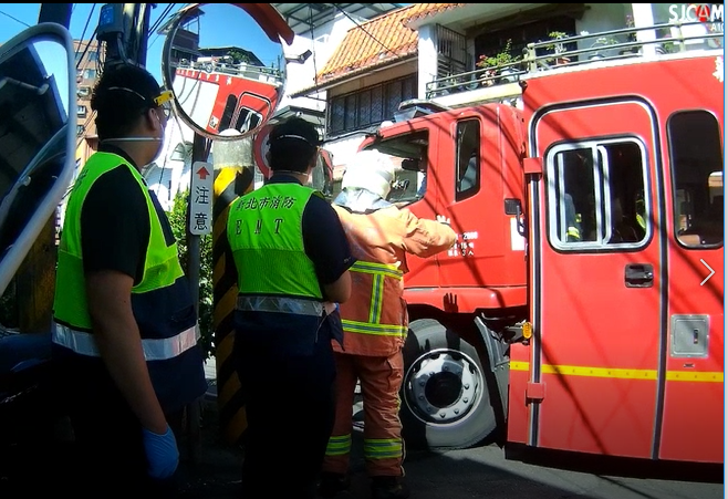
[[[93,334],[72,330],[62,324],[55,324],[52,337],[53,343],[71,349],[77,354],[93,357],[100,356],[96,340]],[[197,326],[194,326],[173,337],[142,340],[144,357],[147,361],[166,361],[168,358],[174,358],[195,346],[198,339],[199,334],[197,332]]]

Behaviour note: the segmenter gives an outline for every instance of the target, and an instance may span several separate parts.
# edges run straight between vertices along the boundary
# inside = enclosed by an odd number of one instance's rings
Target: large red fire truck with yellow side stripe
[[[408,444],[724,460],[722,51],[523,74],[383,126],[458,232],[408,262]]]

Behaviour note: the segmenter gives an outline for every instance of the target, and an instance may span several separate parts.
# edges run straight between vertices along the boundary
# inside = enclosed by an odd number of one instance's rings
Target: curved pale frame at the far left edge
[[[51,219],[59,205],[63,199],[63,195],[73,180],[73,173],[75,169],[75,150],[76,150],[76,65],[75,55],[73,50],[73,39],[67,29],[55,22],[43,22],[40,24],[27,28],[24,31],[14,35],[8,42],[0,45],[0,59],[13,55],[15,52],[23,50],[28,43],[33,39],[48,40],[60,43],[66,52],[66,69],[67,69],[67,83],[69,95],[67,103],[69,119],[64,127],[53,137],[55,139],[61,134],[65,134],[65,150],[66,157],[61,169],[59,178],[53,184],[53,187],[45,194],[39,208],[31,216],[28,225],[21,230],[14,243],[0,256],[0,295],[4,293],[8,284],[15,276],[15,272],[22,264],[25,256],[41,231]],[[46,147],[42,147],[35,158],[31,160],[21,173],[18,181],[22,181],[28,176],[28,171],[35,165],[37,158],[46,152]]]

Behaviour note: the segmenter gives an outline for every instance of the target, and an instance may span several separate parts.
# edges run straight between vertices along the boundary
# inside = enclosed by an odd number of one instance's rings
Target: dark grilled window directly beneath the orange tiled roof
[[[416,74],[339,95],[329,105],[329,135],[355,132],[394,119],[399,103],[416,96]]]

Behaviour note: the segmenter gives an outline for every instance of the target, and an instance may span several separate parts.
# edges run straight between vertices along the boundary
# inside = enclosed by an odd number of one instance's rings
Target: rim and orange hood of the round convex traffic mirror
[[[218,6],[221,3],[190,3],[177,11],[175,14],[176,19],[169,27],[168,34],[165,40],[164,48],[162,49],[162,80],[163,80],[163,85],[166,90],[171,90],[171,66],[169,65],[169,54],[171,52],[171,41],[174,38],[175,32],[177,31],[177,28],[179,28],[180,22],[185,18],[185,13],[198,9],[202,6]],[[281,13],[275,10],[275,8],[270,4],[270,3],[228,3],[229,6],[235,6],[238,9],[243,10],[250,17],[260,25],[260,28],[266,32],[268,38],[275,43],[280,43],[281,48],[283,43],[281,42],[284,41],[289,45],[293,43],[293,39],[295,38],[295,33],[291,29],[290,25],[285,22],[285,19],[281,15]],[[210,141],[239,141],[241,137],[239,135],[220,135],[220,134],[211,134],[205,128],[200,127],[197,123],[193,122],[193,119],[185,113],[185,111],[181,108],[179,105],[179,102],[177,101],[177,96],[175,95],[171,105],[174,106],[175,115],[181,119],[187,126],[189,126],[197,135],[201,135],[205,138],[208,138]],[[259,128],[262,129],[266,124],[270,121],[272,116],[268,116],[268,118],[259,125]],[[254,135],[254,134],[253,134]]]

